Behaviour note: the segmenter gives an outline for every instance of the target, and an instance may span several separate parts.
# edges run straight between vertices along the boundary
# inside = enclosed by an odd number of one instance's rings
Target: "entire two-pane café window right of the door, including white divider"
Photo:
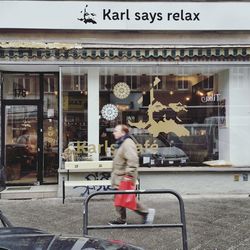
[[[246,97],[248,85],[238,83],[236,67],[118,65],[89,69],[70,68],[68,74],[63,70],[62,152],[73,142],[78,160],[91,160],[93,154],[99,160],[112,159],[112,131],[124,123],[131,127],[141,166],[207,166],[222,160],[234,166],[250,163],[232,152],[242,141],[249,144],[248,137],[235,135],[250,129],[250,101],[241,98]],[[248,75],[250,69],[242,72]],[[96,101],[88,100],[88,93],[95,93]],[[93,136],[96,127],[87,127],[96,121],[97,139]]]

